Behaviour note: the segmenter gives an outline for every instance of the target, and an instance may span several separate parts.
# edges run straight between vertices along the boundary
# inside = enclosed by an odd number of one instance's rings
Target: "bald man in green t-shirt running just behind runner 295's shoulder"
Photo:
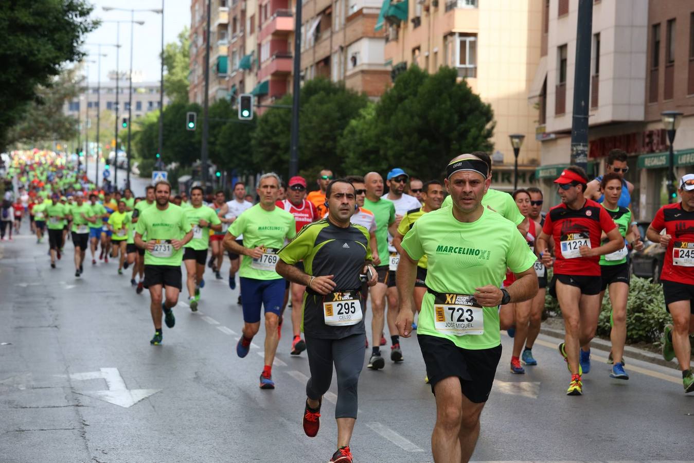
[[[373,212],[373,218],[376,221],[376,249],[372,249],[373,262],[376,264],[376,272],[378,273],[378,283],[371,287],[371,310],[373,310],[373,317],[371,317],[371,339],[373,345],[371,346],[371,357],[369,358],[369,364],[366,368],[372,370],[378,370],[385,367],[385,360],[381,357],[380,346],[386,344],[386,339],[383,336],[384,328],[384,312],[385,312],[385,297],[386,292],[389,287],[395,285],[394,282],[389,280],[389,260],[388,256],[388,233],[389,229],[395,232],[397,229],[396,219],[395,219],[395,205],[393,201],[387,199],[382,199],[383,194],[383,177],[378,174],[378,172],[369,172],[364,176],[364,188],[366,190],[366,198],[364,199],[364,208]],[[375,253],[374,253],[375,251]],[[380,256],[383,256],[381,260]],[[389,317],[393,321],[393,326],[388,326],[390,335],[397,335],[397,328],[395,326],[395,318]],[[396,338],[398,339],[398,338]],[[391,338],[392,340],[392,338]],[[399,343],[398,343],[399,344]],[[402,352],[398,350],[400,355]],[[391,357],[392,358],[392,357]],[[402,357],[400,357],[402,359]]]

